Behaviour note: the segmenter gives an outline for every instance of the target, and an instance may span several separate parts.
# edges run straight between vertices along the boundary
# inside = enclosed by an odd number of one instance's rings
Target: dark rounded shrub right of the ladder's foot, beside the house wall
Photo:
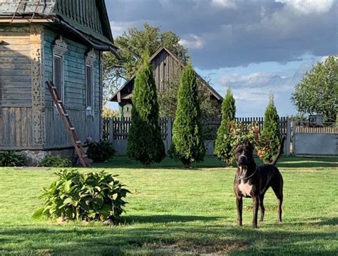
[[[104,162],[116,154],[113,144],[107,140],[94,141],[86,145],[88,146],[88,158],[93,159],[94,162]]]

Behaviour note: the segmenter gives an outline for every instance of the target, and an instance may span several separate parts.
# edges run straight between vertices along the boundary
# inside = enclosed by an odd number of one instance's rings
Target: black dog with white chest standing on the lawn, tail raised
[[[237,145],[235,148],[235,160],[237,170],[234,180],[234,191],[237,204],[237,224],[242,225],[242,197],[252,198],[253,220],[252,227],[257,227],[258,204],[260,204],[260,220],[264,218],[264,195],[267,189],[272,187],[278,203],[278,222],[282,221],[283,202],[283,178],[280,171],[275,167],[283,150],[285,137],[282,138],[280,150],[271,164],[256,165],[253,158],[251,143]]]

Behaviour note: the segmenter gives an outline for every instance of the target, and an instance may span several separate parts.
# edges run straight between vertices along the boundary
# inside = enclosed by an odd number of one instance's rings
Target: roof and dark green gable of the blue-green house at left
[[[48,18],[58,18],[81,34],[86,34],[101,44],[116,48],[104,0],[41,0],[40,3],[39,1],[30,1],[21,4],[19,2],[19,0],[1,0],[0,21],[11,21],[14,14],[14,20],[25,16],[27,18],[34,14],[34,22],[46,22]],[[50,23],[50,21],[48,22]]]

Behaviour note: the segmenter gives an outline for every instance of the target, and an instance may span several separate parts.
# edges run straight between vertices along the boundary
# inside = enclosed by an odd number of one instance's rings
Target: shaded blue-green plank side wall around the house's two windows
[[[44,30],[44,81],[53,80],[53,43],[59,35],[49,29]],[[76,128],[81,141],[91,137],[100,139],[101,133],[101,97],[100,97],[100,57],[96,52],[93,65],[94,116],[86,116],[85,68],[86,53],[91,49],[63,37],[68,46],[64,58],[64,101],[66,110]],[[46,145],[45,148],[63,148],[71,145],[71,140],[63,127],[60,117],[53,107],[51,94],[46,90]]]

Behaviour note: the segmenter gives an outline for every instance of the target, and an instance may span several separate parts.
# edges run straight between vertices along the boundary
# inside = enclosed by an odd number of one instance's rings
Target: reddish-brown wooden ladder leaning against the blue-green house
[[[66,108],[63,105],[63,101],[61,101],[60,96],[56,91],[56,86],[54,86],[53,82],[48,81],[46,82],[46,85],[49,91],[51,92],[51,97],[53,98],[53,102],[56,108],[58,108],[58,114],[60,115],[61,121],[65,126],[69,136],[71,137],[71,143],[75,148],[76,155],[78,155],[79,162],[83,167],[90,166],[91,162],[88,159],[88,155],[86,155],[86,151],[81,145],[81,140],[79,140],[78,133],[76,133],[76,130],[73,124],[71,123],[71,119],[69,118],[68,113],[66,112]]]

